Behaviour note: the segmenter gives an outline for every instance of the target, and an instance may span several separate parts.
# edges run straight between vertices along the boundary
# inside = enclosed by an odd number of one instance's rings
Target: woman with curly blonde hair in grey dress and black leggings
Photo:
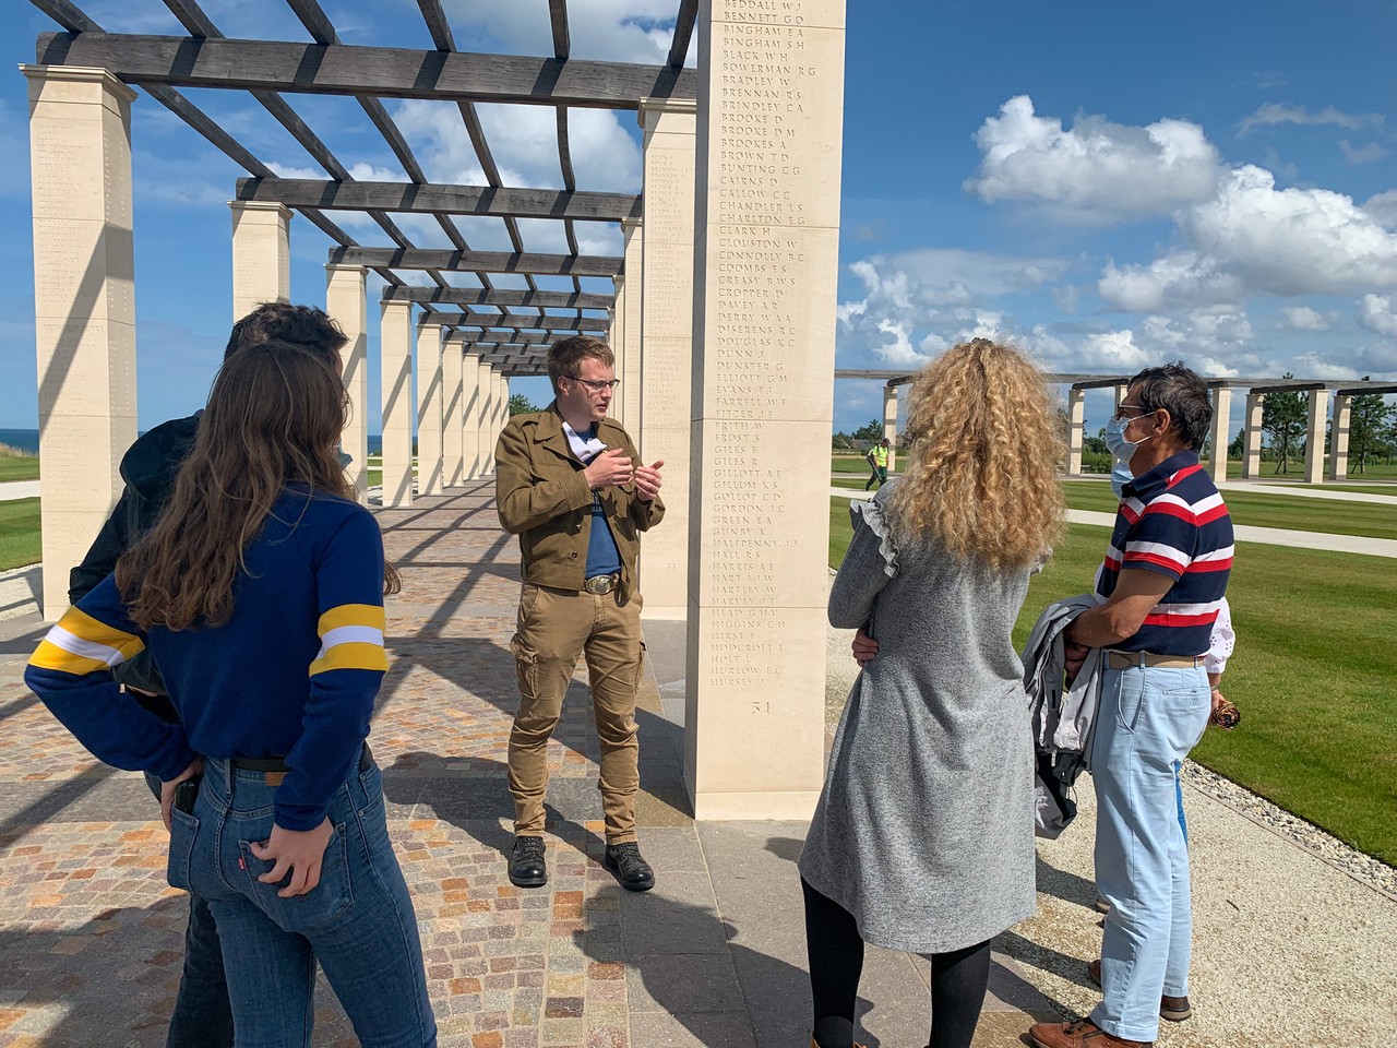
[[[983,338],[911,391],[905,475],[849,507],[830,623],[861,630],[800,880],[814,1048],[854,1044],[863,943],[932,961],[930,1048],[968,1048],[990,940],[1034,910],[1032,739],[1011,632],[1062,527],[1042,374]]]

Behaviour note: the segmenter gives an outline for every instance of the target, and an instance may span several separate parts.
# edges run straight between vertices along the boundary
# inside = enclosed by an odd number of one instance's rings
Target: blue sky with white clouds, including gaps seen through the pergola
[[[414,0],[323,6],[348,43],[432,46]],[[550,53],[546,0],[444,6],[461,49]],[[229,36],[309,39],[282,0],[203,7]],[[658,61],[678,0],[570,7],[574,56]],[[109,31],[182,32],[158,0],[84,10]],[[838,366],[911,369],[988,334],[1060,372],[1183,358],[1217,376],[1397,377],[1397,4],[856,0],[848,20]],[[53,28],[24,3],[0,14],[15,63]],[[263,161],[323,176],[250,96],[187,94]],[[404,177],[352,101],[286,98],[356,177]],[[429,177],[481,182],[453,106],[387,105]],[[25,109],[13,73],[0,88],[0,428],[36,425]],[[509,184],[559,184],[550,110],[486,106],[482,119]],[[573,110],[571,138],[580,187],[640,189],[634,115]],[[144,96],[133,148],[148,428],[208,390],[232,321],[225,201],[240,172]],[[372,224],[342,225],[386,243]],[[432,225],[402,225],[444,246]],[[560,249],[546,224],[524,225],[529,250]],[[461,228],[475,247],[507,243],[497,221]],[[619,253],[615,226],[580,232],[584,250]],[[293,222],[292,298],[324,302],[327,246]],[[539,380],[518,388],[546,397]],[[1092,428],[1104,400],[1088,400]],[[880,393],[837,383],[834,407],[835,426],[854,428],[880,414]]]

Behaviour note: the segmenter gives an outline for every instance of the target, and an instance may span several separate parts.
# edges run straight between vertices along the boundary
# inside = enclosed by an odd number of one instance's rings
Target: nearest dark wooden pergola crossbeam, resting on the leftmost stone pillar
[[[643,98],[698,92],[694,70],[671,66],[136,34],[41,34],[36,61],[98,66],[142,85],[592,109],[638,109]]]

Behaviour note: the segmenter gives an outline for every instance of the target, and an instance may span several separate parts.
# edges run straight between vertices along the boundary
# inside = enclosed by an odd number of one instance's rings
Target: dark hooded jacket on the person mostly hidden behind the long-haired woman
[[[189,418],[163,422],[137,437],[127,450],[122,458],[122,479],[126,481],[126,489],[98,532],[92,548],[82,558],[82,563],[68,574],[70,604],[77,604],[112,574],[116,570],[116,559],[155,524],[155,518],[175,490],[175,475],[180,464],[194,447],[198,416],[203,414],[196,411]],[[176,720],[175,708],[165,697],[165,682],[161,681],[149,650],[115,667],[112,675],[123,685],[154,692],[159,696],[154,701],[141,694],[133,697],[158,717]]]

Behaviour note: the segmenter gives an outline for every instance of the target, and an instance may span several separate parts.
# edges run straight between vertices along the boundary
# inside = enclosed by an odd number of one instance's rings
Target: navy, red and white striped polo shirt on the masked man
[[[1196,451],[1171,456],[1126,485],[1097,581],[1098,598],[1111,597],[1120,572],[1132,567],[1175,581],[1140,630],[1115,647],[1204,654],[1232,572],[1232,517]]]

